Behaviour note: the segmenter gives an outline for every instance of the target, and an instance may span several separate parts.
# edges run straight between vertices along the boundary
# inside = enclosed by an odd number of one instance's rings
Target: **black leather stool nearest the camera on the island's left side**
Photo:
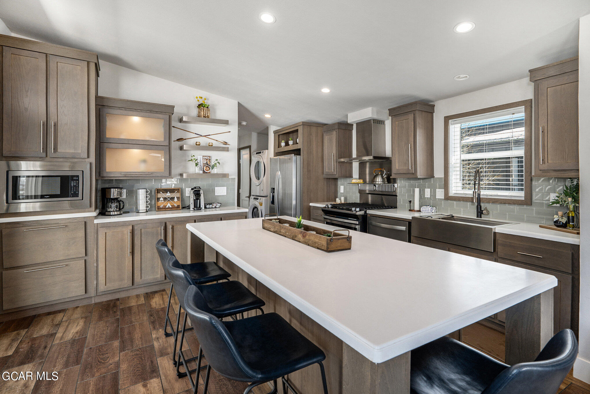
[[[283,392],[289,385],[284,376],[307,366],[319,364],[324,394],[327,394],[323,360],[326,355],[299,331],[291,327],[280,315],[266,313],[240,320],[221,321],[207,312],[207,299],[200,291],[202,286],[190,286],[185,295],[185,317],[188,315],[201,343],[197,367],[202,353],[207,356],[207,374],[203,394],[207,394],[211,368],[221,375],[240,382],[251,382],[244,394],[256,386],[273,382],[276,394],[277,380],[283,382]],[[180,355],[184,362],[184,356]],[[192,382],[193,392],[196,386]]]

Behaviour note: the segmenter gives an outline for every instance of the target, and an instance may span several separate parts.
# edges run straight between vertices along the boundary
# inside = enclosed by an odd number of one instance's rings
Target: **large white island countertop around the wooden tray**
[[[375,363],[557,285],[545,273],[354,231],[352,249],[326,253],[261,220],[186,227]]]

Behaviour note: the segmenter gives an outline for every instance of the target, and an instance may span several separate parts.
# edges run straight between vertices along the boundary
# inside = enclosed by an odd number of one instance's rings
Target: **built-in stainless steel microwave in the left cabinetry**
[[[2,213],[90,208],[87,162],[1,161]]]

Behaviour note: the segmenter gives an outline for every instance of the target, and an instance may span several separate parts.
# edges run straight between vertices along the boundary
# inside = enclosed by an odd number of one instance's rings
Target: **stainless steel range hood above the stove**
[[[356,123],[356,157],[338,159],[346,162],[388,161],[385,155],[385,122],[367,119]]]

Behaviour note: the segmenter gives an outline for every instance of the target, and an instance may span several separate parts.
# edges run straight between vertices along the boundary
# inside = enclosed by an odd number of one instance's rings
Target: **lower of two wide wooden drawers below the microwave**
[[[2,272],[2,309],[86,293],[84,260]]]

